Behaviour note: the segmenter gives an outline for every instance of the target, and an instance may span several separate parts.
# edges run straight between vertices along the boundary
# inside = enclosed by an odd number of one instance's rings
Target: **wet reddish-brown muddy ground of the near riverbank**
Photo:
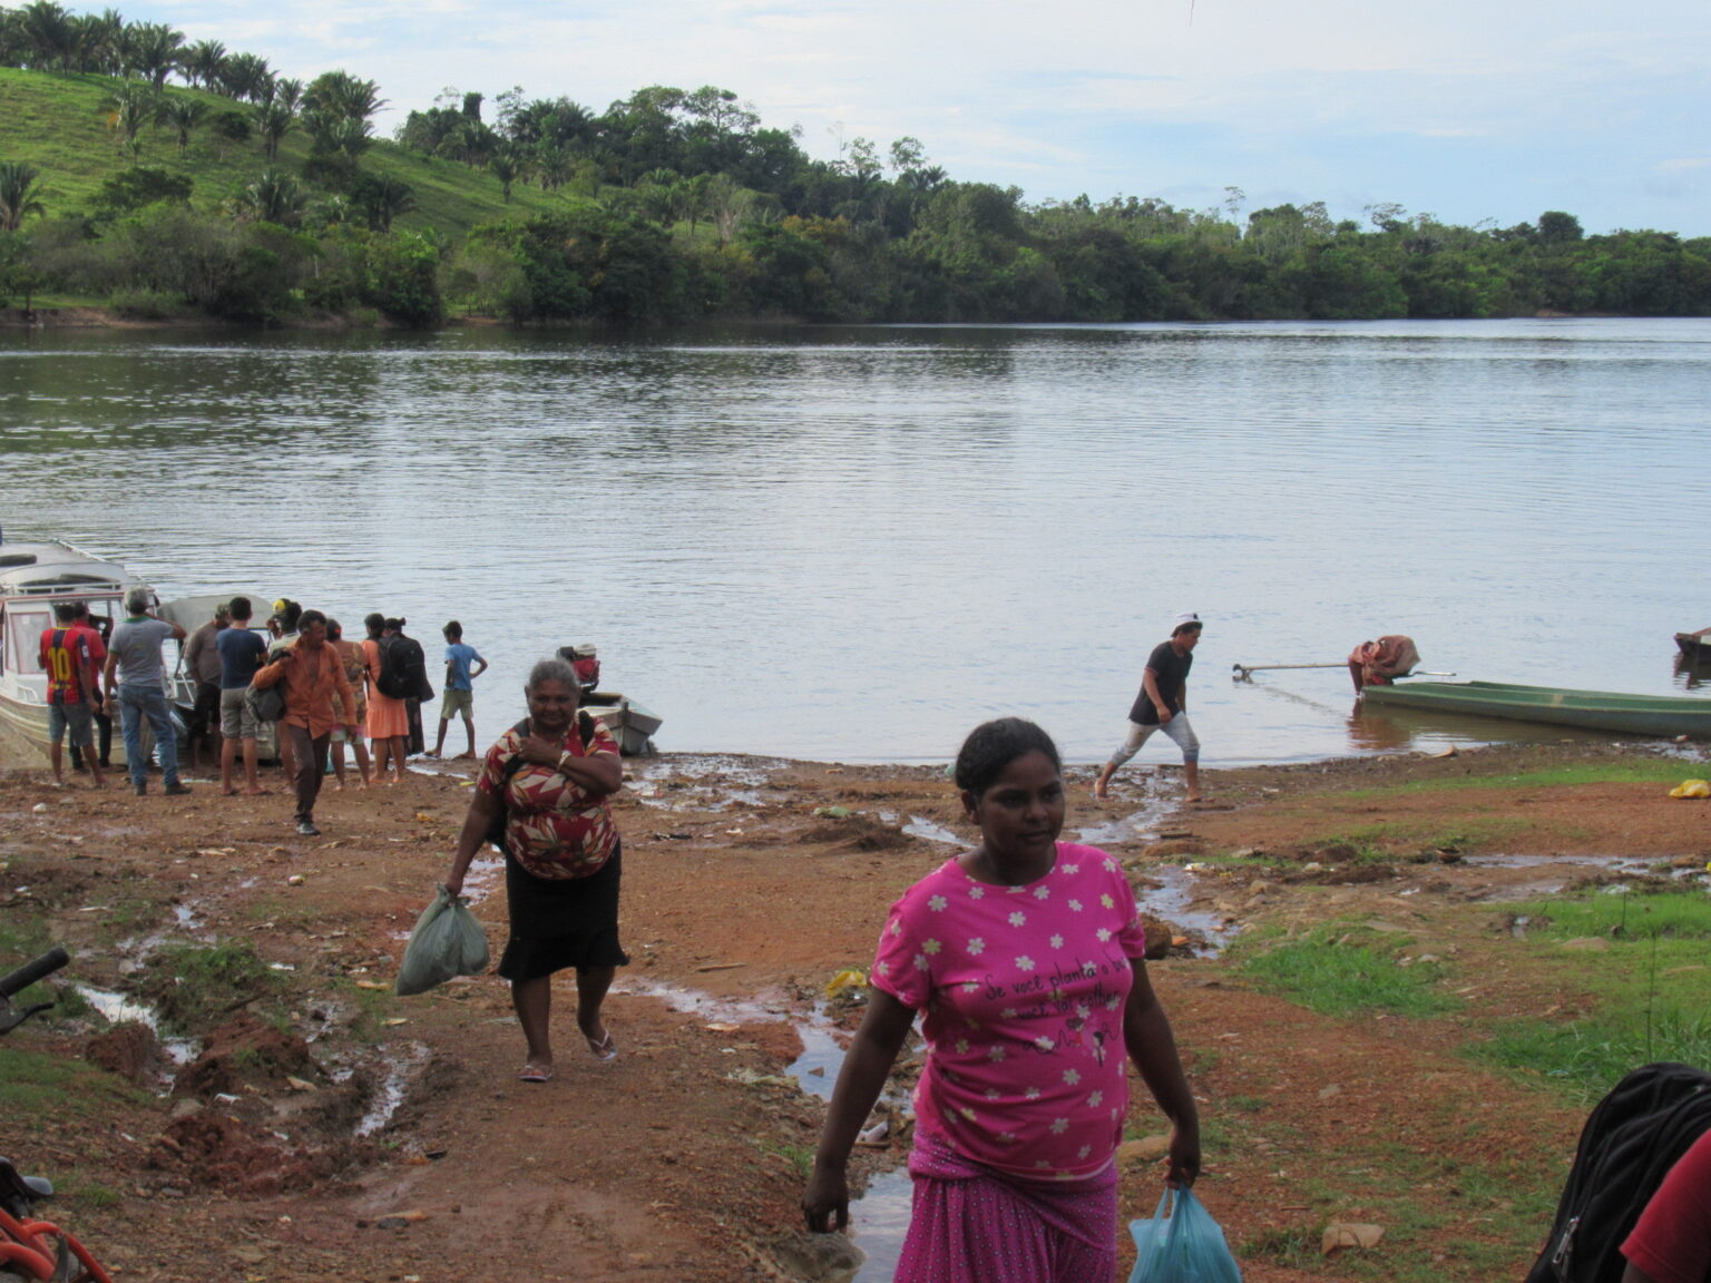
[[[1095,802],[1092,772],[1071,772],[1066,837],[1116,852],[1163,920],[1155,941],[1175,939],[1155,985],[1208,1119],[1199,1192],[1246,1245],[1247,1280],[1468,1276],[1461,1244],[1396,1227],[1371,1250],[1412,1262],[1266,1247],[1374,1215],[1359,1179],[1324,1192],[1352,1146],[1418,1168],[1422,1223],[1451,1218],[1518,1278],[1538,1239],[1480,1242],[1506,1223],[1490,1204],[1518,1156],[1535,1175],[1566,1170],[1584,1107],[1465,1055],[1456,1018],[1317,1016],[1256,989],[1217,944],[1360,920],[1461,951],[1470,1002],[1567,1018],[1578,996],[1540,992],[1492,944],[1502,903],[1607,874],[1613,855],[1702,866],[1711,804],[1672,802],[1656,782],[1374,790],[1655,754],[1530,746],[1213,772],[1215,801],[1196,811],[1175,809],[1170,773],[1126,772]],[[785,1069],[801,1025],[857,1016],[823,987],[866,968],[886,905],[956,848],[946,838],[968,840],[943,770],[631,763],[616,816],[633,965],[607,1006],[621,1055],[585,1054],[565,982],[558,1074],[529,1086],[500,980],[390,994],[467,806],[464,766],[329,790],[311,840],[277,778],[260,799],[210,783],[139,799],[0,773],[0,961],[63,941],[77,982],[197,1035],[163,1045],[94,1011],[26,1025],[5,1044],[0,1153],[60,1180],[50,1206],[121,1283],[838,1276],[842,1240],[797,1230],[821,1103]],[[1492,852],[1540,859],[1475,859]],[[477,895],[493,886],[491,866],[472,879]],[[503,895],[476,912],[498,948]],[[210,979],[183,944],[248,946],[265,967],[228,949],[231,970]],[[1133,1114],[1131,1136],[1162,1131],[1141,1088]],[[905,1150],[893,1134],[857,1167],[893,1168]],[[1157,1196],[1157,1163],[1131,1158],[1124,1215]]]

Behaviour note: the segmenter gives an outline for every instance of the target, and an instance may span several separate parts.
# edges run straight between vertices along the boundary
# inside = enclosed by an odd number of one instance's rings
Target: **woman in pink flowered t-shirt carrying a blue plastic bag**
[[[811,1230],[845,1227],[850,1148],[919,1011],[927,1059],[897,1280],[1109,1280],[1124,1055],[1174,1124],[1170,1184],[1199,1174],[1194,1097],[1146,979],[1134,893],[1105,852],[1057,840],[1063,765],[1032,722],[977,727],[956,787],[980,845],[891,905],[802,1211]]]

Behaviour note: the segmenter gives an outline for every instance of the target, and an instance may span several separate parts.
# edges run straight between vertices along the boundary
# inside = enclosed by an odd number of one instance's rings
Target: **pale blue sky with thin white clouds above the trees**
[[[72,3],[72,9],[94,5]],[[713,84],[811,156],[922,142],[1030,202],[1323,200],[1497,226],[1711,234],[1711,3],[1646,0],[132,0],[127,19],[376,80],[390,133],[447,87]]]

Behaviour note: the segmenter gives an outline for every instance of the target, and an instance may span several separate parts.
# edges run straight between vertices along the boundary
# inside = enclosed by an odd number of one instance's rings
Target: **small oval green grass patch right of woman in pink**
[[[1242,975],[1266,992],[1326,1016],[1436,1016],[1459,1008],[1441,984],[1446,967],[1417,961],[1410,944],[1406,937],[1329,924],[1294,939],[1244,936],[1230,955]]]

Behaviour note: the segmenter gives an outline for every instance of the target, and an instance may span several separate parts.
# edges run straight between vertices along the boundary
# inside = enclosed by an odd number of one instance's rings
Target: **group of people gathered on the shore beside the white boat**
[[[412,754],[438,758],[447,729],[464,724],[476,756],[474,681],[488,662],[464,642],[455,619],[445,636],[445,693],[435,746],[426,748],[421,708],[433,700],[426,653],[409,636],[404,618],[376,612],[363,619],[366,636],[351,640],[337,619],[281,599],[262,628],[255,628],[255,602],[233,597],[219,602],[193,630],[159,618],[152,595],[137,587],[125,595],[125,618],[115,626],[92,619],[87,602],[55,606],[55,626],[41,633],[41,667],[48,674],[50,765],[65,783],[63,742],[70,742],[72,770],[87,772],[94,787],[106,785],[111,768],[113,720],[120,724],[132,790],[149,792],[151,749],[159,758],[163,790],[188,794],[180,772],[178,729],[166,695],[164,643],[183,645],[183,662],[195,683],[188,717],[190,766],[219,766],[222,795],[265,795],[260,780],[260,739],[272,724],[277,758],[296,799],[298,833],[317,837],[315,801],[329,768],[335,787],[368,787],[404,778]],[[257,693],[272,689],[272,710]],[[347,749],[356,778],[349,778]],[[373,749],[373,751],[370,751]]]

